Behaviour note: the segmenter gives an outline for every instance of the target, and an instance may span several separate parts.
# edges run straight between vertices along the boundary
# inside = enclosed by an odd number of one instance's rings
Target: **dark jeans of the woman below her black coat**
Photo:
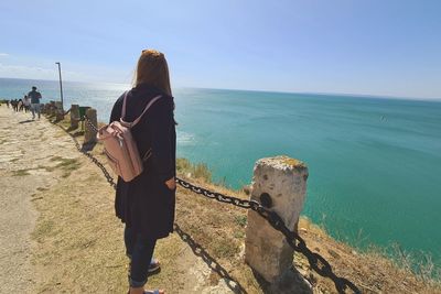
[[[150,261],[153,257],[155,238],[135,232],[130,227],[125,229],[126,254],[131,260],[129,284],[141,287],[147,283]]]

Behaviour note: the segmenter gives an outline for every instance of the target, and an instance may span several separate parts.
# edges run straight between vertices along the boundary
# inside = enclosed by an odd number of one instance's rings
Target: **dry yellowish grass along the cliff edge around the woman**
[[[68,122],[62,123],[68,127]],[[104,162],[101,151],[97,144],[92,152]],[[114,216],[114,190],[85,156],[75,162],[62,157],[53,161],[55,165],[47,171],[53,168],[52,172],[62,173],[64,179],[34,195],[40,211],[33,233],[36,240],[33,262],[41,275],[39,292],[125,293],[127,260],[122,225]],[[211,173],[204,165],[195,166],[180,160],[178,171],[180,176],[190,176],[196,185],[248,198],[243,192],[211,184]],[[25,171],[18,172],[17,176],[20,173]],[[213,266],[216,262],[225,269],[244,292],[267,293],[268,285],[244,263],[246,222],[245,209],[219,204],[181,187],[178,189],[176,224],[209,255],[212,261],[207,263]],[[377,249],[357,252],[305,218],[300,220],[299,233],[312,251],[333,265],[337,275],[347,277],[363,293],[441,293],[439,281],[429,279],[427,272],[413,274],[406,258],[392,262]],[[200,255],[201,248],[195,250]],[[168,293],[195,293],[192,283],[197,282],[212,288],[205,293],[220,293],[216,291],[222,279],[219,274],[193,254],[176,233],[161,240],[155,254],[162,262],[162,270],[149,280],[150,287],[164,287]],[[294,254],[293,263],[312,284],[314,293],[335,293],[333,283],[312,272],[305,258]],[[192,273],[193,270],[200,272]],[[208,271],[208,275],[201,271]],[[196,281],[201,276],[204,281]]]

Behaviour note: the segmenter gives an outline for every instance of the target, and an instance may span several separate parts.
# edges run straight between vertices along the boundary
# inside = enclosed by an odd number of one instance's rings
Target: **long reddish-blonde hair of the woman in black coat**
[[[155,50],[143,50],[135,72],[133,86],[146,84],[172,96],[169,66],[164,54]]]

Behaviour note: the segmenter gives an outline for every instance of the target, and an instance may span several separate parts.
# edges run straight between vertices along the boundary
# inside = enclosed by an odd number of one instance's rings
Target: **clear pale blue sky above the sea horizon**
[[[143,48],[174,87],[441,98],[441,1],[0,2],[0,77],[130,83]]]

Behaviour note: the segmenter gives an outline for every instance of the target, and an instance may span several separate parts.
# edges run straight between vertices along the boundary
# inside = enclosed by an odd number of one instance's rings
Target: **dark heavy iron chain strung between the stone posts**
[[[85,116],[85,121],[87,124],[94,130],[98,131],[98,129],[90,122],[90,120]],[[62,127],[61,127],[62,128]],[[63,128],[62,128],[63,129]],[[64,130],[64,129],[63,129]],[[73,137],[71,133],[68,133],[75,142],[76,148],[78,151],[80,151],[83,154],[88,156],[104,173],[104,175],[107,178],[107,182],[116,188],[116,184],[111,175],[108,173],[106,167],[90,153],[84,151],[80,146],[78,141],[76,140],[75,137]],[[337,290],[338,293],[346,293],[346,290],[352,290],[353,293],[362,293],[358,287],[352,283],[349,280],[337,276],[333,270],[332,265],[319,253],[312,252],[308,247],[306,242],[302,237],[300,237],[295,231],[291,231],[286,225],[284,221],[281,219],[281,217],[276,213],[272,211],[265,206],[262,206],[260,203],[256,200],[247,200],[247,199],[240,199],[237,197],[233,196],[227,196],[217,192],[211,192],[208,189],[195,186],[182,178],[176,177],[176,183],[181,185],[183,188],[190,189],[195,194],[203,195],[207,198],[211,199],[216,199],[219,203],[226,203],[226,204],[232,204],[234,206],[245,208],[245,209],[251,209],[256,211],[259,216],[265,218],[269,225],[271,225],[272,228],[276,230],[280,231],[284,237],[288,242],[288,244],[294,249],[294,251],[298,251],[302,253],[308,262],[318,274],[324,277],[329,277],[334,282],[335,288]]]

